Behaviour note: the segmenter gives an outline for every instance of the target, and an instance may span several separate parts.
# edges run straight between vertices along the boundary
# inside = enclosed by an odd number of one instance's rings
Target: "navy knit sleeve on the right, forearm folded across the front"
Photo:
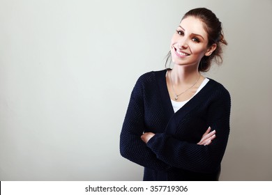
[[[209,146],[201,146],[180,141],[170,134],[156,134],[149,140],[147,146],[158,159],[170,166],[199,173],[213,173],[220,169],[229,137],[231,107],[228,91],[224,88],[220,93],[206,111],[207,123],[212,130],[216,130],[216,139]]]

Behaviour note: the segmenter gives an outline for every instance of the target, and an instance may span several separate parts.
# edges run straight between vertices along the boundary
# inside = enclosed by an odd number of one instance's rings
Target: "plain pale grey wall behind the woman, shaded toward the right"
[[[130,92],[196,7],[229,42],[206,75],[232,95],[220,180],[272,180],[270,0],[0,0],[0,180],[142,180],[119,155]]]

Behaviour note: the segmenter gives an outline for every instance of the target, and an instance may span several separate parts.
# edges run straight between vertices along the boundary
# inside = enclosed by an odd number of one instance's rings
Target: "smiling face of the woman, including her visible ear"
[[[208,36],[203,22],[195,17],[181,21],[171,41],[172,61],[176,65],[197,65],[204,55],[213,52],[208,48]]]

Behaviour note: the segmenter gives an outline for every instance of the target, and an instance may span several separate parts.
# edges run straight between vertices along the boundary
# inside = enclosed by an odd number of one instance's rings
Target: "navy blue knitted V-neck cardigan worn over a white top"
[[[130,96],[120,135],[120,153],[144,166],[144,180],[218,180],[229,137],[229,92],[213,79],[174,113],[166,70],[139,77]],[[209,146],[197,143],[208,127]],[[153,132],[147,143],[143,132]]]

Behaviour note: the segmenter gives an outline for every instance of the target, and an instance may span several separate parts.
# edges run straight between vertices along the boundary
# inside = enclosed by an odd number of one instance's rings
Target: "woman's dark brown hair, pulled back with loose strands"
[[[192,9],[183,16],[182,20],[190,16],[195,17],[204,23],[204,29],[208,34],[208,47],[211,47],[214,43],[217,46],[216,50],[214,50],[210,56],[203,56],[199,63],[199,72],[207,72],[211,68],[211,61],[213,59],[215,59],[218,65],[222,63],[222,45],[227,45],[227,41],[222,32],[222,24],[218,17],[207,8]],[[165,66],[170,58],[171,52],[168,52]]]

